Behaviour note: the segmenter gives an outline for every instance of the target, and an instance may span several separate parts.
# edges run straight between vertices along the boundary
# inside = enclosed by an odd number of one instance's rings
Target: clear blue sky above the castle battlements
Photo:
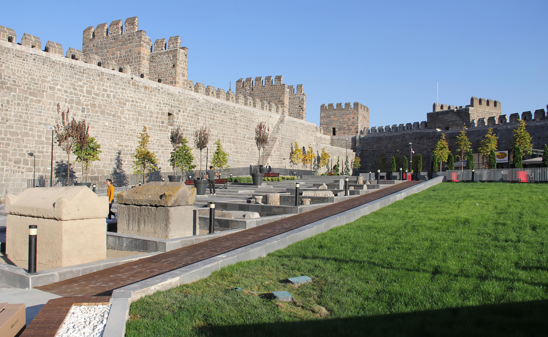
[[[426,120],[436,101],[499,100],[503,113],[548,104],[548,1],[7,2],[0,25],[82,48],[88,26],[138,16],[154,42],[179,35],[189,79],[229,88],[283,75],[322,103],[360,102],[370,126]]]

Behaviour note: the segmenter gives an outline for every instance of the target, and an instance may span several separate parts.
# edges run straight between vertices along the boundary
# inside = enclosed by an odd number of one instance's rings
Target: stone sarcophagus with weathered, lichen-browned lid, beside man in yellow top
[[[174,239],[198,234],[196,188],[150,182],[117,195],[118,233]]]

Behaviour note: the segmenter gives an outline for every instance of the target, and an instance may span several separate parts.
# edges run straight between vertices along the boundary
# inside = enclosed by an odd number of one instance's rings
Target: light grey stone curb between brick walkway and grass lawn
[[[146,295],[153,294],[158,290],[168,290],[180,286],[181,284],[198,281],[201,278],[208,277],[213,271],[219,270],[230,264],[252,260],[258,257],[265,257],[268,253],[286,248],[297,241],[305,240],[334,227],[353,222],[384,206],[402,200],[406,196],[418,193],[433,185],[441,183],[442,179],[443,177],[430,179],[429,181],[406,188],[395,194],[352,208],[349,211],[338,213],[334,216],[290,230],[287,233],[279,234],[269,239],[255,242],[252,245],[238,248],[231,252],[217,255],[216,257],[116,289],[112,293],[111,313],[107,319],[103,337],[123,337],[125,335],[125,323],[128,320],[130,304]],[[112,312],[116,312],[116,315],[111,316]]]

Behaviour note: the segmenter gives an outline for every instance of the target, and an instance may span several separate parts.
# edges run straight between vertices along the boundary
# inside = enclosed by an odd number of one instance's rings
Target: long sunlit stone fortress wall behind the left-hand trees
[[[332,155],[345,153],[345,149],[330,146],[330,137],[322,135],[315,124],[287,113],[264,111],[260,105],[236,103],[231,91],[216,90],[216,96],[207,96],[205,90],[196,88],[198,92],[175,88],[0,40],[0,196],[3,199],[7,193],[26,188],[26,179],[33,175],[28,152],[35,153],[36,177],[49,177],[45,168],[50,166],[52,132],[42,127],[56,123],[57,103],[63,111],[70,107],[76,119],[85,118],[90,136],[101,144],[101,161],[93,163],[91,175],[111,173],[118,150],[125,171],[131,173],[130,155],[143,125],[148,127],[149,149],[156,153],[162,171],[171,170],[168,134],[175,125],[181,126],[191,143],[193,131],[207,126],[212,132],[210,150],[220,139],[232,167],[257,161],[254,129],[259,121],[272,130],[271,143],[261,159],[272,166],[289,167],[283,158],[288,158],[294,141],[301,146],[311,143],[315,150],[326,147]],[[194,154],[198,163],[199,153],[195,150]],[[55,145],[53,159],[66,161],[67,155]],[[205,160],[204,151],[204,166]],[[75,172],[79,175],[78,165]]]

